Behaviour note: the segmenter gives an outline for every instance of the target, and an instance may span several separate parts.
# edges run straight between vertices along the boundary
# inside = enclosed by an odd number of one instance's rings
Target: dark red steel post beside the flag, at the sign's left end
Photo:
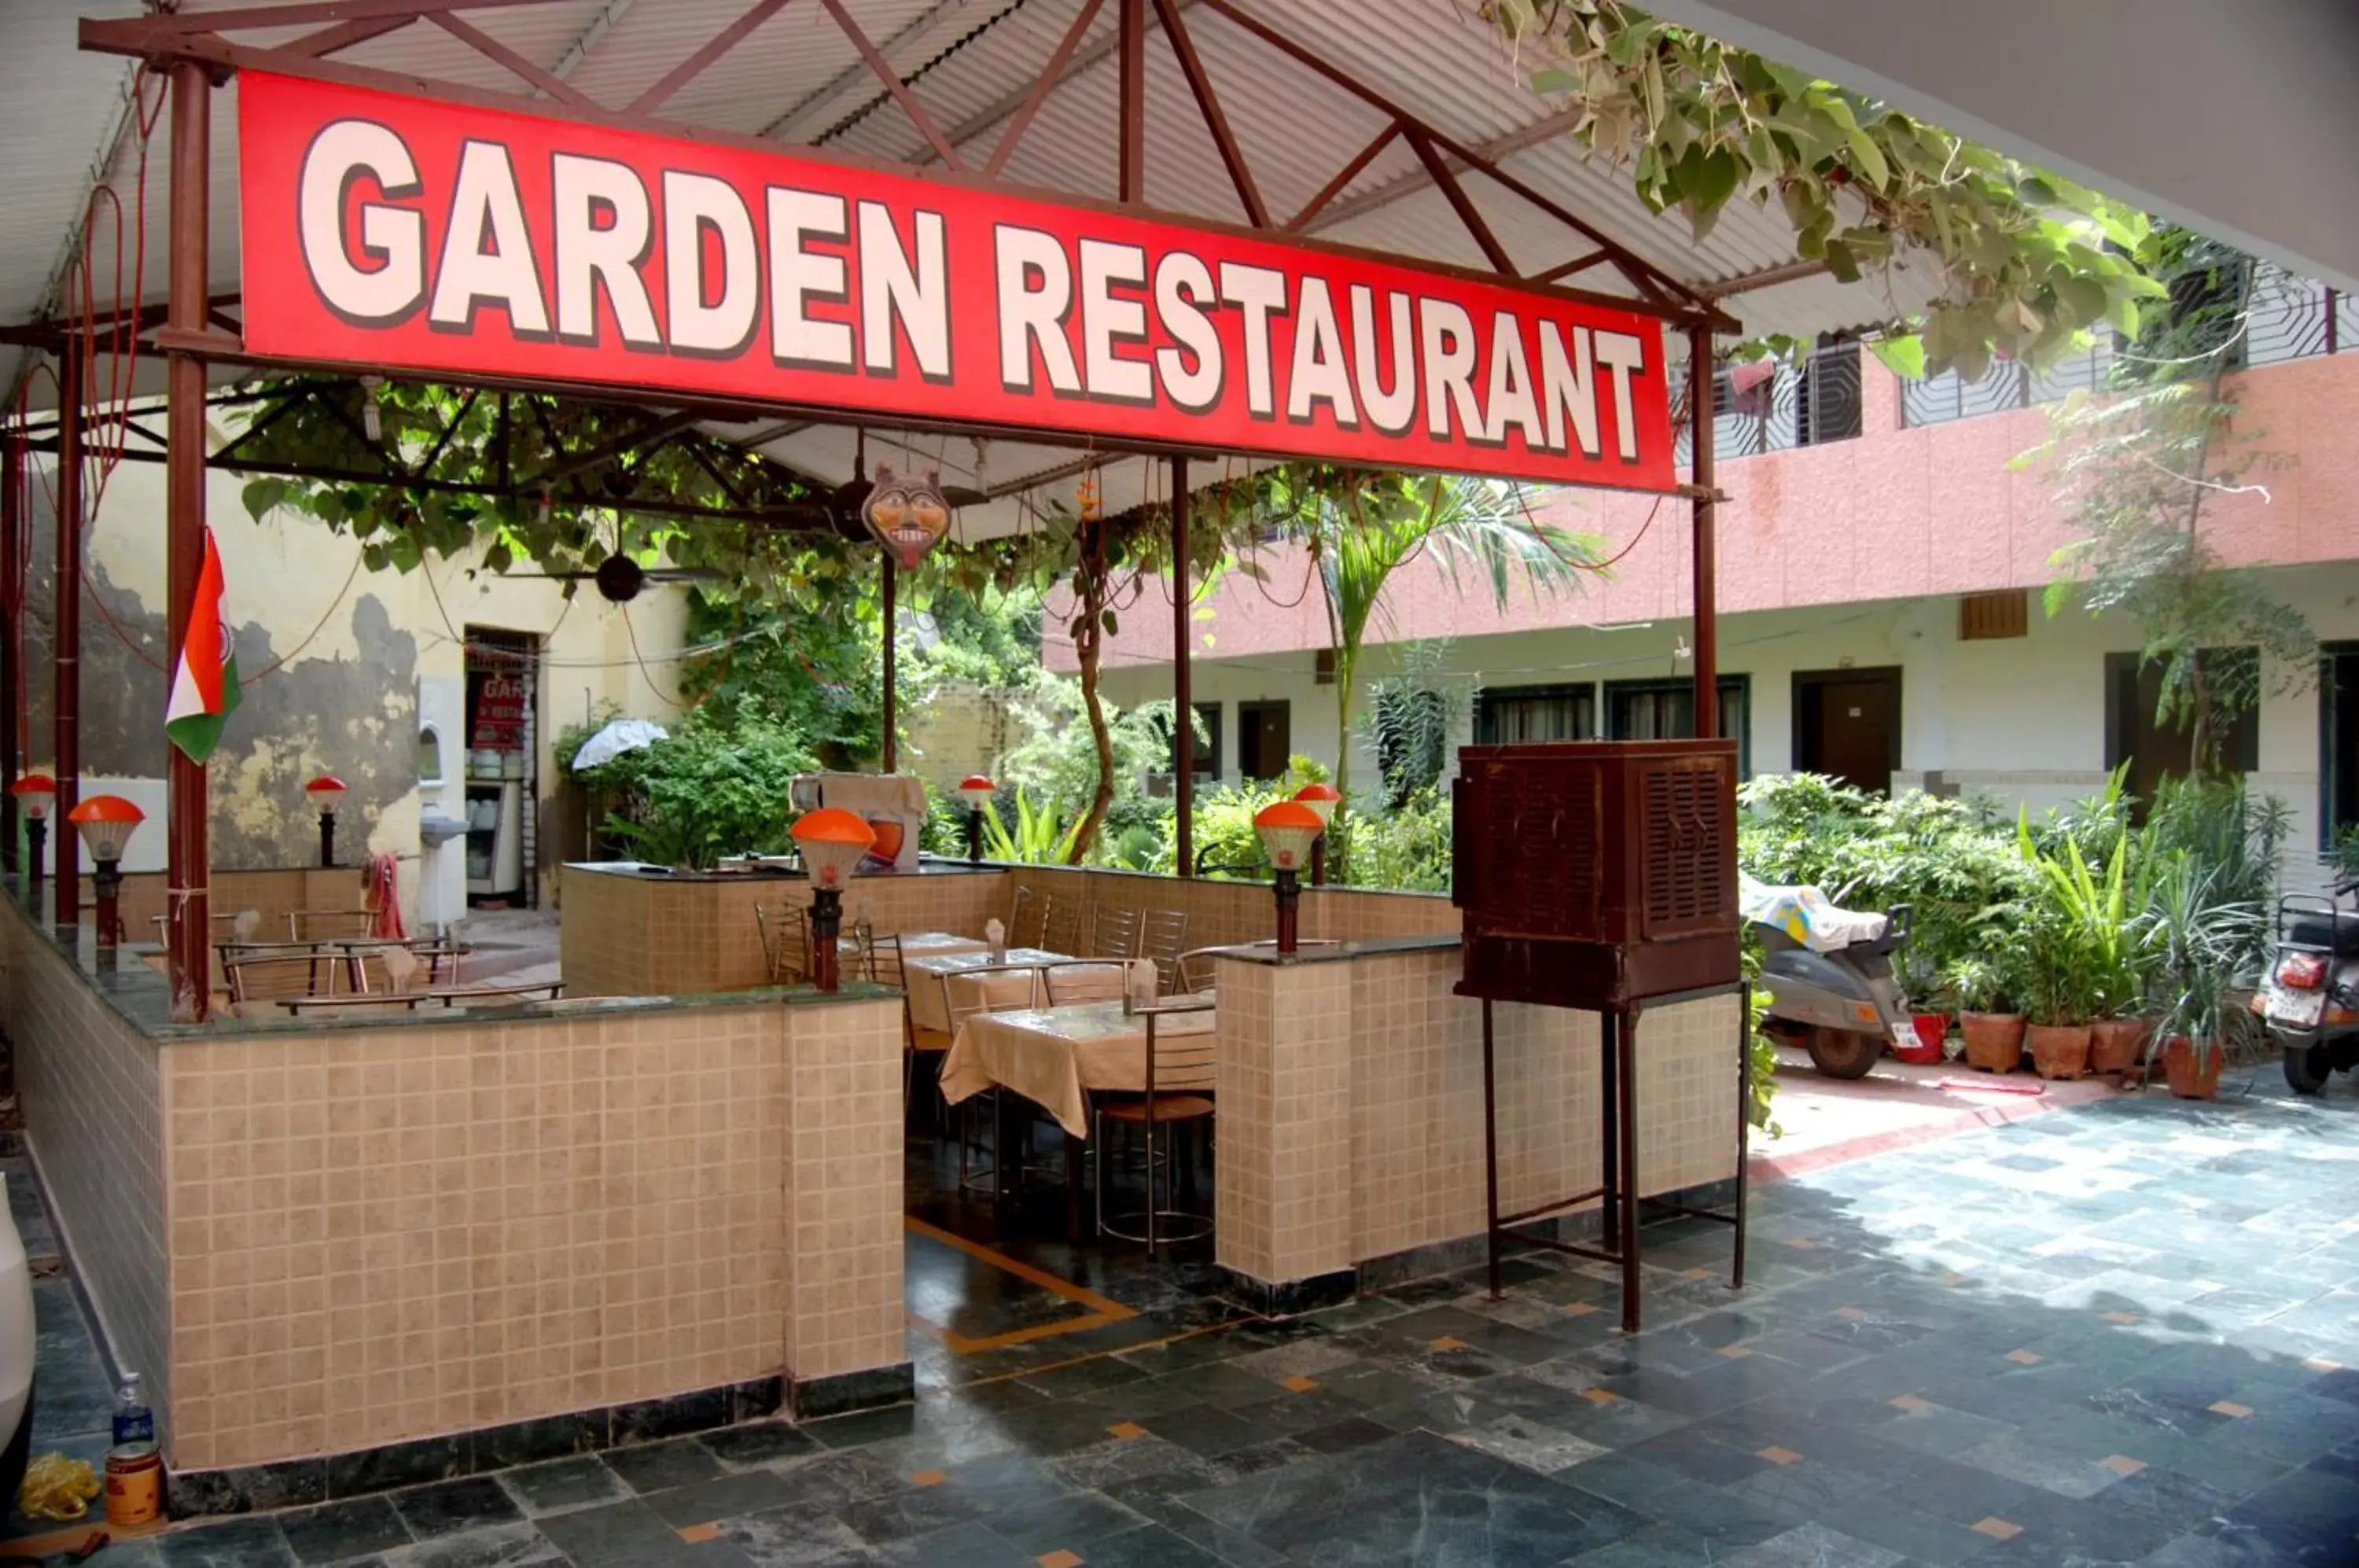
[[[212,75],[196,61],[172,66],[170,325],[205,330],[208,184],[212,172]],[[189,646],[189,613],[205,566],[205,361],[172,354],[165,370],[165,606],[167,660]],[[226,627],[224,627],[226,634]],[[212,648],[193,648],[212,658]],[[172,1021],[212,1014],[212,865],[205,844],[205,764],[167,750],[165,927]]]

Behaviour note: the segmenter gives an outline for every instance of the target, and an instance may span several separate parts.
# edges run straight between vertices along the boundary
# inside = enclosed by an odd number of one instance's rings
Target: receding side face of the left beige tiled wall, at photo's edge
[[[99,1000],[14,903],[0,913],[0,1007],[33,1160],[106,1337],[163,1408],[172,1368],[156,1042]]]

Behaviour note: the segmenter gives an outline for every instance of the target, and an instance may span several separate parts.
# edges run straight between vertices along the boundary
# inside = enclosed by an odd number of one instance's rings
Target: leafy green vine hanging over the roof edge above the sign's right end
[[[1581,104],[1571,139],[1628,170],[1651,210],[1684,212],[1698,241],[1732,200],[1776,203],[1795,257],[1845,283],[1882,276],[1894,337],[1913,316],[1897,269],[1930,269],[1923,337],[1885,349],[1904,373],[1979,380],[1993,354],[2038,365],[2100,323],[2135,335],[2161,295],[2142,212],[1890,104],[1621,0],[1489,0],[1484,14],[1536,92]]]

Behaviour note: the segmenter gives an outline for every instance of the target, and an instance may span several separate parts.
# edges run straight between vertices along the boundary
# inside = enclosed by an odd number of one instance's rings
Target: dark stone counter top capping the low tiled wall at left
[[[241,1019],[215,1014],[205,1023],[172,1021],[172,981],[165,979],[149,955],[163,953],[160,943],[120,943],[111,955],[101,955],[99,936],[92,927],[50,924],[47,882],[35,896],[21,877],[0,879],[5,903],[14,920],[38,938],[47,941],[80,971],[83,981],[106,1000],[132,1028],[156,1042],[238,1040],[255,1035],[321,1035],[354,1028],[465,1028],[486,1021],[495,1023],[564,1023],[606,1014],[677,1012],[684,1007],[833,1007],[837,1002],[899,1000],[889,986],[847,983],[842,990],[821,993],[811,986],[760,986],[750,990],[719,990],[708,995],[656,995],[656,997],[559,997],[554,1002],[514,1002],[472,1009],[385,1009],[359,1014],[283,1014]]]

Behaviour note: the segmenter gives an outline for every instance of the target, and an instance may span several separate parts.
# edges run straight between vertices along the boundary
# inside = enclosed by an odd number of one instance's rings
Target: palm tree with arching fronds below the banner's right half
[[[1460,594],[1467,589],[1460,571],[1474,571],[1489,582],[1491,604],[1507,611],[1517,580],[1545,597],[1578,589],[1583,571],[1599,571],[1602,540],[1538,521],[1519,486],[1491,479],[1288,469],[1274,476],[1269,500],[1283,528],[1309,545],[1326,589],[1340,736],[1335,788],[1345,809],[1359,653],[1371,627],[1392,622],[1385,604],[1392,573],[1430,554]]]

